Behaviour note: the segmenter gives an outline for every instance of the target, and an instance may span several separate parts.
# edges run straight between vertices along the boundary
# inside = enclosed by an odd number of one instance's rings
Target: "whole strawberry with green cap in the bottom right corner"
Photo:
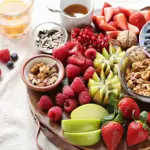
[[[147,112],[143,111],[140,114],[140,120],[132,121],[129,124],[126,138],[126,143],[128,146],[140,144],[148,139],[149,129],[145,124],[147,116]]]

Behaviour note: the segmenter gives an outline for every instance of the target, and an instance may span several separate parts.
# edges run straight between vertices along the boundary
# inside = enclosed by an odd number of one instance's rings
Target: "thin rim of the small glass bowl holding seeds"
[[[36,45],[36,41],[35,41],[35,38],[36,38],[36,37],[34,36],[34,33],[35,33],[36,29],[37,29],[38,27],[44,25],[44,24],[53,24],[53,25],[56,25],[56,26],[58,26],[59,28],[61,28],[61,29],[63,30],[63,32],[64,32],[64,42],[63,42],[61,45],[59,45],[58,47],[64,45],[64,44],[67,42],[67,40],[68,40],[68,32],[67,32],[67,30],[66,30],[61,24],[55,23],[55,22],[43,22],[43,23],[40,23],[40,24],[38,24],[37,26],[35,26],[35,27],[33,28],[32,37],[34,38],[34,43],[35,43],[36,48],[38,48],[38,50],[40,50],[40,51],[42,51],[42,52],[44,52],[44,53],[51,54],[51,53],[52,53],[51,51],[53,51],[53,49],[47,49],[47,48],[44,49],[44,48],[42,48],[42,47],[39,47],[39,46]],[[58,48],[58,47],[57,47],[57,48]],[[50,52],[49,52],[49,51],[50,51]]]

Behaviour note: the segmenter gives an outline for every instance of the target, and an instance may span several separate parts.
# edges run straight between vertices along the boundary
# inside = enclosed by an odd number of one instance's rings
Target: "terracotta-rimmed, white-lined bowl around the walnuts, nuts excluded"
[[[42,62],[44,62],[45,64],[49,64],[51,66],[53,66],[55,64],[57,64],[57,66],[58,66],[57,81],[54,84],[45,86],[45,87],[35,86],[28,80],[28,75],[30,73],[30,69],[33,66],[35,66],[36,64],[39,64]],[[23,67],[21,69],[21,77],[22,77],[22,80],[24,81],[24,83],[30,89],[32,89],[34,91],[38,91],[38,92],[48,92],[48,91],[51,91],[51,90],[57,88],[57,86],[62,82],[62,80],[64,78],[64,74],[65,74],[65,71],[64,71],[63,64],[58,59],[54,58],[53,56],[44,55],[44,54],[40,54],[40,55],[30,58],[27,62],[25,62],[25,64],[23,65]]]

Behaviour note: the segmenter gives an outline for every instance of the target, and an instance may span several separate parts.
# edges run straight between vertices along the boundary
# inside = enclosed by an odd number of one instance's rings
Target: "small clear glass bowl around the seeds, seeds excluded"
[[[34,28],[32,35],[33,35],[33,40],[34,40],[36,48],[44,53],[51,54],[53,49],[42,48],[42,47],[37,46],[37,44],[36,44],[36,39],[38,37],[39,31],[46,30],[46,29],[47,30],[58,30],[63,33],[63,43],[61,45],[65,44],[67,42],[68,33],[64,27],[62,27],[60,24],[57,24],[54,22],[44,22]],[[61,45],[59,45],[59,46],[61,46]]]

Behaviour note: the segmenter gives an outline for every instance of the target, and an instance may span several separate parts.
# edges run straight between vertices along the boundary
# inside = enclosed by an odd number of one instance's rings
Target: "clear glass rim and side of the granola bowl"
[[[143,47],[143,46],[140,46],[140,47]],[[143,47],[143,49],[144,49],[144,47]],[[147,55],[146,51],[143,50],[143,49],[142,49],[143,53],[145,53],[145,54]],[[127,53],[125,54],[125,56],[121,59],[120,63],[119,63],[118,76],[119,76],[119,78],[120,78],[121,85],[122,85],[123,89],[124,89],[127,93],[129,93],[131,96],[133,96],[134,98],[138,99],[139,101],[143,101],[143,102],[150,103],[150,96],[144,96],[144,95],[140,95],[140,94],[135,93],[133,90],[131,90],[131,89],[127,86],[126,82],[124,82],[124,81],[123,81],[124,79],[121,77],[121,67],[122,67],[123,61],[125,60],[125,58],[128,58],[128,56],[130,55],[131,52],[132,52],[132,51],[127,52]],[[148,56],[148,55],[147,55],[147,56]]]

